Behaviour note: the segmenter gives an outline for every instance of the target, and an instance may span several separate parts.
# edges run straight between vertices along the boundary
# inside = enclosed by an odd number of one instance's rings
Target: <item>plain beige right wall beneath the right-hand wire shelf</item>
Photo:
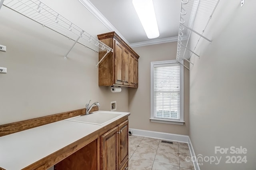
[[[190,68],[190,138],[196,155],[222,156],[201,170],[256,167],[256,1],[220,1]],[[247,154],[215,154],[214,147],[246,148]],[[226,164],[226,156],[246,156],[246,164]]]

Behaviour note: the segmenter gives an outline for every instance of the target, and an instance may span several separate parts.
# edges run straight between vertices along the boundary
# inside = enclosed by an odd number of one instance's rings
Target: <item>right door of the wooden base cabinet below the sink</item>
[[[119,141],[119,148],[118,148],[118,162],[119,168],[128,160],[128,120],[123,122],[118,126],[118,141]]]

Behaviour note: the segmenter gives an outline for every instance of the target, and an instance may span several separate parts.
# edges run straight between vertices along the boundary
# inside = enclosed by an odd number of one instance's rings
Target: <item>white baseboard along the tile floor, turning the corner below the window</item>
[[[132,131],[133,135],[137,135],[137,136],[145,136],[145,137],[149,137],[149,138],[158,138],[158,139],[163,139],[163,140],[172,140],[172,141],[176,141],[176,142],[187,143],[191,156],[192,157],[194,156],[194,158],[196,158],[195,157],[196,154],[194,152],[192,143],[191,143],[188,135],[170,134],[170,133],[164,133],[164,132],[155,132],[155,131],[132,129],[132,128],[129,128],[129,130]],[[196,159],[193,159],[193,160],[194,160],[193,164],[194,164],[195,170],[200,170],[197,160]]]

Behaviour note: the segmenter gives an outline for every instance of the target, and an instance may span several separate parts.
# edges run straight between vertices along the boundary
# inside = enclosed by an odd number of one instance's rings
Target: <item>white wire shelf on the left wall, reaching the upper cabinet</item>
[[[76,24],[60,15],[58,12],[40,0],[0,0],[0,9],[2,6],[14,10],[15,12],[26,16],[27,18],[41,24],[42,26],[55,31],[69,38],[70,40],[73,40],[74,44],[64,56],[65,59],[76,43],[81,44],[95,52],[98,51],[87,46],[88,43],[97,46],[99,51],[106,51],[106,54],[113,52],[112,48],[94,36],[88,34],[86,31],[82,30],[82,28],[78,27]]]

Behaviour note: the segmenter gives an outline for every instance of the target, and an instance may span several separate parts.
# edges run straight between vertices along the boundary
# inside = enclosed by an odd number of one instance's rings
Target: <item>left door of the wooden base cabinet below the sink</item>
[[[118,170],[118,127],[113,128],[100,137],[101,170]]]

